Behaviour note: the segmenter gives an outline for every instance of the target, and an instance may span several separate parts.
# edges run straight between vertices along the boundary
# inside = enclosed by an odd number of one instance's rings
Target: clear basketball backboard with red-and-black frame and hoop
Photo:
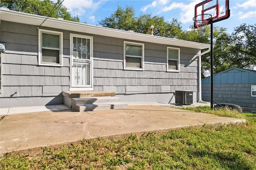
[[[207,20],[208,18],[204,18],[207,16],[205,14],[212,15],[212,20],[208,24],[229,18],[229,0],[205,0],[196,4],[195,17],[201,15],[201,20]],[[198,28],[197,22],[194,22],[194,27]]]

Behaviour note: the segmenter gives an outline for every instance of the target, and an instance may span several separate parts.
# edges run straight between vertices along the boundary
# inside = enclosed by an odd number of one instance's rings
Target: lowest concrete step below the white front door
[[[127,104],[122,102],[112,102],[112,103],[94,103],[94,104],[80,104],[76,105],[76,111],[98,111],[98,110],[106,110],[106,109],[126,109]]]

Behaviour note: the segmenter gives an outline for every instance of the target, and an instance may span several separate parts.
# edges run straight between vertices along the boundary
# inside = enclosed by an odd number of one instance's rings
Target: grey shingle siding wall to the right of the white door
[[[158,96],[152,100],[159,101],[159,95],[154,93],[168,94],[162,96],[172,98],[176,90],[198,92],[198,49],[180,47],[180,72],[167,72],[168,45],[139,42],[144,43],[145,47],[144,71],[124,70],[124,41],[131,42],[94,36],[94,90],[111,87],[109,89],[115,91],[116,95],[124,95],[122,99],[126,101],[130,100],[128,95],[138,94],[138,97],[132,97],[134,101],[146,101],[146,94],[152,94],[152,97]],[[113,86],[116,88],[113,89]],[[143,97],[140,97],[141,93]],[[196,102],[198,93],[194,95]]]

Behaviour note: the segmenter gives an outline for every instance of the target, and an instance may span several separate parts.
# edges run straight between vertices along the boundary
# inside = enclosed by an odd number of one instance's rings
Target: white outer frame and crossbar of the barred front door
[[[90,74],[91,74],[90,83],[91,84],[90,85],[72,87],[73,37],[90,39],[90,61],[91,61],[91,68],[90,68]],[[79,59],[79,60],[89,61],[88,59]],[[93,37],[92,36],[85,36],[85,35],[70,33],[70,77],[69,78],[70,78],[70,91],[75,91],[75,90],[92,91],[93,90]]]

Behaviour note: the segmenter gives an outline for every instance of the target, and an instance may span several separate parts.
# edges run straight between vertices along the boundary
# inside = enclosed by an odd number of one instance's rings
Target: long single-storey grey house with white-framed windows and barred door
[[[44,21],[45,20],[45,21]],[[0,8],[0,107],[63,104],[63,91],[109,91],[122,101],[201,100],[201,49],[188,42]],[[208,50],[209,51],[209,50]]]

